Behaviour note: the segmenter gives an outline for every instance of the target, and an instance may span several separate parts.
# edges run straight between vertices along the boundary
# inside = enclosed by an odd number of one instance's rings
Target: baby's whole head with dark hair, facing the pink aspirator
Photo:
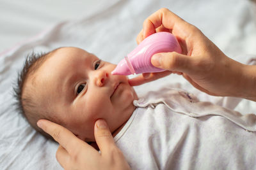
[[[40,132],[36,122],[45,118],[95,141],[95,121],[103,118],[113,133],[131,117],[138,98],[126,76],[111,74],[115,66],[75,47],[27,57],[15,88],[20,109]]]

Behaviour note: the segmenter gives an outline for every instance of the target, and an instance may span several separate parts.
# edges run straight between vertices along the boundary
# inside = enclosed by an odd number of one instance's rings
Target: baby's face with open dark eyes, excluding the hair
[[[53,117],[84,141],[95,141],[95,121],[104,118],[113,133],[131,117],[137,99],[116,65],[80,48],[60,48],[36,72],[36,89]]]

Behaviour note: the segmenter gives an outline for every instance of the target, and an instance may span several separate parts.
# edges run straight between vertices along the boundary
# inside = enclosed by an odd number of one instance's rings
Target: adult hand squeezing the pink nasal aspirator
[[[166,8],[145,20],[137,42],[159,31],[172,32],[182,47],[182,53],[155,54],[152,64],[168,71],[140,75],[129,80],[131,85],[141,85],[170,73],[178,73],[207,94],[256,100],[256,90],[253,90],[256,85],[255,67],[228,58],[199,29]]]

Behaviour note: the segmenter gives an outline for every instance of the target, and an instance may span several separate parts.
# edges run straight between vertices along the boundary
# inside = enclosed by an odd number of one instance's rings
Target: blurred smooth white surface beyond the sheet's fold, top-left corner
[[[54,24],[88,17],[115,2],[0,0],[0,53]]]

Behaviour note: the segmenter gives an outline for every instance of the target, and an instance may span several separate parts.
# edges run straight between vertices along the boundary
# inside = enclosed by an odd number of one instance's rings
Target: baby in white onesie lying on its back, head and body
[[[45,118],[88,143],[103,118],[132,169],[256,168],[255,115],[180,89],[138,99],[126,76],[111,74],[114,68],[75,47],[28,58],[15,90],[20,108],[37,131]]]

